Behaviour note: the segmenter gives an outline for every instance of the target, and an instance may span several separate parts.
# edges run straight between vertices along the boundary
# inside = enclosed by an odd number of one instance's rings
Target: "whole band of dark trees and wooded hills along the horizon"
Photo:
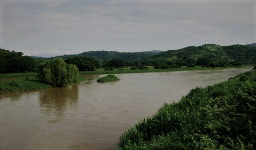
[[[216,44],[205,44],[199,47],[190,46],[178,50],[169,50],[157,55],[159,51],[137,52],[137,53],[118,53],[106,51],[85,52],[82,54],[96,55],[102,59],[95,59],[88,56],[70,55],[63,59],[67,64],[75,64],[79,71],[95,71],[99,68],[104,70],[114,70],[123,67],[135,69],[168,69],[180,67],[226,67],[241,66],[242,64],[256,64],[256,47],[243,45],[219,46]],[[122,55],[122,58],[113,58],[113,55]],[[143,59],[131,60],[133,56],[148,55]],[[104,56],[105,55],[105,56]],[[132,56],[131,56],[132,55]],[[111,56],[111,57],[110,57]],[[60,56],[61,57],[61,56]],[[104,59],[103,59],[104,58]],[[106,58],[106,59],[105,59]],[[111,58],[111,59],[107,59]],[[135,57],[134,57],[135,58]],[[54,58],[49,58],[54,59]],[[30,56],[23,56],[21,52],[0,49],[0,73],[36,72],[39,64],[49,60],[39,59]]]

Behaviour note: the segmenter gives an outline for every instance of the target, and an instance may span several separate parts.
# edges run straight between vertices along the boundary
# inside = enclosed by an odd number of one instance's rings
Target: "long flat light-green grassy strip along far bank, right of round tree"
[[[171,72],[171,71],[197,71],[197,70],[218,70],[218,69],[227,69],[227,68],[244,68],[248,66],[241,66],[241,67],[216,67],[216,68],[210,68],[210,67],[195,67],[195,68],[169,68],[169,69],[154,69],[153,67],[149,67],[149,69],[145,70],[131,70],[130,67],[126,67],[124,69],[115,69],[113,71],[104,71],[103,69],[98,69],[96,71],[80,71],[81,75],[85,74],[120,74],[120,73],[144,73],[144,72]],[[252,66],[249,66],[253,68]]]

